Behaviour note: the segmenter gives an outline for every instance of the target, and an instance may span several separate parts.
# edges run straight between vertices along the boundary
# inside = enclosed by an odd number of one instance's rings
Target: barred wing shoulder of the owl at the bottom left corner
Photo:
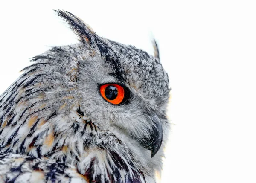
[[[87,183],[76,167],[21,154],[0,154],[0,183]]]

